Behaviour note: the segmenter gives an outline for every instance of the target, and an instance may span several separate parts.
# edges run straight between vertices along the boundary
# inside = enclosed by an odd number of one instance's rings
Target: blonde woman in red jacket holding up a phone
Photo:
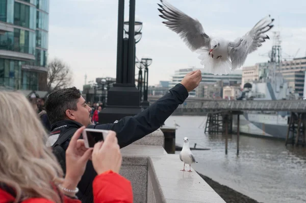
[[[0,91],[0,202],[81,202],[75,196],[90,156],[97,176],[95,202],[133,202],[131,183],[118,174],[121,154],[116,133],[87,149],[71,138],[66,150],[66,175],[51,149],[33,107],[22,94]],[[106,153],[107,151],[107,153]]]

